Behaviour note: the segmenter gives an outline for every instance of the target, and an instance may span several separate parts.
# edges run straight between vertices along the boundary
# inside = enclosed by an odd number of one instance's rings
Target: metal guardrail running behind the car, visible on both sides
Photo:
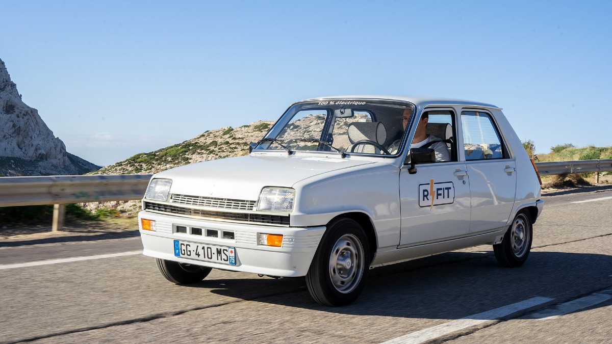
[[[540,175],[612,171],[612,159],[537,162]],[[0,207],[54,204],[53,229],[64,223],[65,204],[140,200],[152,174],[0,178]],[[599,174],[597,175],[599,176]]]

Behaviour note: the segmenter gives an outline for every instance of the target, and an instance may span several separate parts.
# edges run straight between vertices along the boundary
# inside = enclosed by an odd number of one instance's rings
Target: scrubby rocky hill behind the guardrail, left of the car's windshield
[[[258,121],[241,127],[209,130],[191,140],[139,153],[90,174],[149,174],[206,160],[248,154],[248,144],[261,139],[274,122]]]

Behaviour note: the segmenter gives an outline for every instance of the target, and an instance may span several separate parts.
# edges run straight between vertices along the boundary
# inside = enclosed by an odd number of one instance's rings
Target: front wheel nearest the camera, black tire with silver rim
[[[306,274],[310,295],[319,304],[351,304],[364,289],[370,270],[370,246],[363,228],[339,218],[327,226]]]

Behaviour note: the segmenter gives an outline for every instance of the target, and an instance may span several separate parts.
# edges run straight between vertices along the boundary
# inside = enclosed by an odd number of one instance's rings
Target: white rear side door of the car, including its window
[[[472,199],[470,233],[503,227],[514,206],[515,160],[510,159],[490,113],[463,110],[461,131]]]

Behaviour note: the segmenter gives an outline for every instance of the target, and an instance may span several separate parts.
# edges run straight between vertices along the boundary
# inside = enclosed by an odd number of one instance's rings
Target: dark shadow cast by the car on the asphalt
[[[612,256],[531,252],[522,267],[505,268],[493,252],[449,252],[370,271],[354,304],[324,307],[300,279],[204,280],[194,287],[264,304],[345,315],[459,319],[532,297],[565,302],[612,285]],[[255,275],[253,275],[255,276]],[[580,312],[580,311],[578,311]]]

